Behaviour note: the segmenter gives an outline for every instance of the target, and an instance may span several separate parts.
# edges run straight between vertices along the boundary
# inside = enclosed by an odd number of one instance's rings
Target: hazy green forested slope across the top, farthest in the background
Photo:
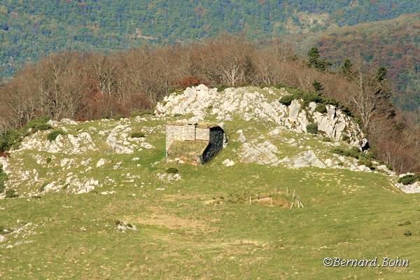
[[[225,31],[271,38],[414,12],[419,1],[2,1],[0,76],[60,50],[120,50]]]

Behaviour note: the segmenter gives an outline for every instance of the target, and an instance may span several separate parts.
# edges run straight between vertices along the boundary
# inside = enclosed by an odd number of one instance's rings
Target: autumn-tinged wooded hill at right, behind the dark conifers
[[[405,111],[420,107],[420,14],[333,29],[306,48],[314,44],[337,68],[358,55],[367,64],[385,66],[397,90],[395,104]]]

